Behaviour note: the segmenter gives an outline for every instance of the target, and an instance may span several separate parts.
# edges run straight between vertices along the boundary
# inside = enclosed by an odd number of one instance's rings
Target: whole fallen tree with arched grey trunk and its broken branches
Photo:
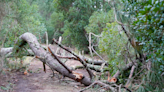
[[[70,50],[66,49],[64,46],[62,46],[61,44],[57,43],[55,40],[54,42],[60,46],[62,49],[68,51],[69,53],[71,53],[72,55],[74,55],[74,57],[62,57],[62,56],[57,56],[53,53],[52,49],[50,46],[48,46],[48,50],[46,50],[43,46],[41,46],[39,44],[39,42],[37,41],[37,38],[27,32],[22,34],[18,41],[16,42],[14,47],[11,48],[1,48],[0,54],[1,55],[6,55],[8,53],[21,53],[21,50],[23,48],[24,45],[26,45],[28,43],[30,49],[32,50],[32,52],[30,50],[27,50],[29,52],[29,55],[34,55],[36,58],[40,59],[44,64],[46,64],[47,66],[49,66],[53,71],[57,71],[59,72],[61,75],[65,76],[65,77],[69,77],[71,79],[74,79],[75,81],[81,82],[82,84],[89,86],[90,84],[94,85],[95,83],[102,86],[104,84],[104,82],[101,83],[100,82],[94,82],[92,81],[92,77],[93,77],[93,73],[91,71],[91,69],[96,70],[95,67],[93,67],[93,65],[89,65],[87,63],[92,63],[95,62],[96,65],[102,65],[103,63],[105,65],[107,65],[106,62],[103,61],[91,61],[89,59],[86,58],[81,58],[80,56],[76,55],[75,53],[71,52]],[[16,55],[17,56],[17,55]],[[68,58],[68,59],[74,59],[74,60],[78,60],[82,63],[83,68],[85,68],[89,75],[89,77],[84,76],[83,74],[80,73],[76,73],[73,72],[71,69],[69,69],[64,63],[62,63],[60,61],[60,59],[58,58]],[[129,68],[131,68],[134,65],[133,62],[127,64],[126,67],[124,67],[122,70],[127,70]],[[97,66],[100,69],[100,66]],[[101,72],[101,70],[97,70],[98,72]],[[112,78],[112,80],[114,80],[113,82],[115,83],[117,81],[117,77],[119,76],[120,71],[118,71],[114,77]],[[110,90],[113,90],[113,87],[111,88],[110,86],[110,82],[111,79],[108,79],[105,84],[103,85],[105,88],[110,88]],[[107,86],[108,85],[108,86]],[[121,87],[120,88],[125,88],[125,87]],[[127,88],[125,88],[127,89]],[[117,88],[114,88],[114,90],[117,90]]]

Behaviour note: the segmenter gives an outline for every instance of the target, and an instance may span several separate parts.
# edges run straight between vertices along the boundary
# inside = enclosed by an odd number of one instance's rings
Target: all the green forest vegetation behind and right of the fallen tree
[[[86,53],[89,33],[99,35],[92,37],[92,43],[108,57],[111,75],[128,62],[141,61],[129,87],[138,92],[163,91],[163,0],[0,1],[1,47],[13,47],[25,32],[43,42],[46,31],[49,42],[62,36],[64,45]],[[121,74],[120,83],[126,83],[129,73]]]

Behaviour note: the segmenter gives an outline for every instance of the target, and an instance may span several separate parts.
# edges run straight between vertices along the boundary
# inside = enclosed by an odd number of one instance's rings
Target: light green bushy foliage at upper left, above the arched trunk
[[[8,11],[1,25],[4,46],[13,46],[14,41],[25,32],[31,32],[39,37],[39,34],[42,35],[46,31],[40,21],[41,16],[36,4],[30,5],[26,0],[11,0],[4,3],[4,8]]]

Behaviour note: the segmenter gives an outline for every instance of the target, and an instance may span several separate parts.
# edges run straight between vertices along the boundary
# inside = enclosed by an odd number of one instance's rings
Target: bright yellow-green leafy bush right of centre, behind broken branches
[[[118,27],[116,22],[107,23],[99,41],[99,50],[107,54],[110,72],[113,74],[124,66],[123,54],[127,43],[127,37],[123,32],[118,31]]]

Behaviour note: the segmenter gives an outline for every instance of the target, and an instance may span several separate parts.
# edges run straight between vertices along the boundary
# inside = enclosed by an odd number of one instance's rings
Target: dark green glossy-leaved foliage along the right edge
[[[164,71],[164,1],[123,0],[123,14],[131,19],[131,32],[143,45],[147,61],[152,62],[151,72],[145,75],[146,91],[161,91],[164,86],[161,74]],[[141,45],[140,44],[140,45]]]

